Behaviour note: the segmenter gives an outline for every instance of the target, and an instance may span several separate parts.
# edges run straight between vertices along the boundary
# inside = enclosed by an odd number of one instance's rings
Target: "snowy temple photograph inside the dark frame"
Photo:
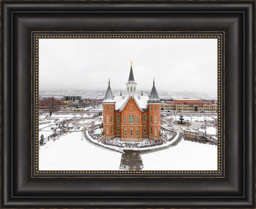
[[[221,36],[35,36],[37,173],[220,173]]]

